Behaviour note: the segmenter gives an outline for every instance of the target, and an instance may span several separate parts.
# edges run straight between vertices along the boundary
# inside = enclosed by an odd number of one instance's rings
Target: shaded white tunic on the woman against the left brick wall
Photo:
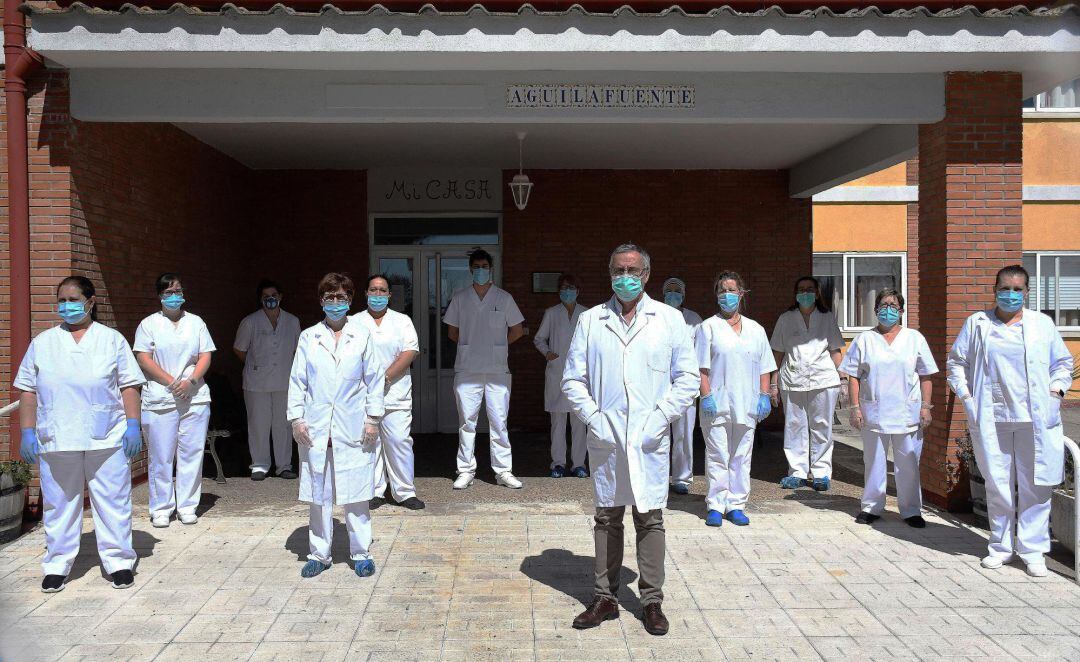
[[[262,310],[256,310],[240,322],[233,349],[244,356],[244,390],[258,393],[288,390],[288,370],[300,338],[300,321],[282,310],[278,326]]]

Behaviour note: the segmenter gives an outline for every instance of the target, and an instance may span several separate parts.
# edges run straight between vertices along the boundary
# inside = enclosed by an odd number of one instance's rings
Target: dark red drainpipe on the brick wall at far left
[[[18,2],[3,5],[4,98],[8,104],[8,252],[11,283],[11,378],[30,346],[30,179],[27,163],[26,80],[44,60],[26,46],[26,16]],[[4,403],[6,404],[6,403]],[[18,417],[11,418],[12,455]]]

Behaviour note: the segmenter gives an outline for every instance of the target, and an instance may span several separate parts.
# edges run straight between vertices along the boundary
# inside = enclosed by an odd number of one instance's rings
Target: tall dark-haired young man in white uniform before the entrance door
[[[525,316],[510,293],[492,284],[491,255],[477,249],[469,255],[473,284],[459,289],[446,308],[443,322],[447,337],[458,343],[454,362],[454,398],[458,405],[458,477],[454,489],[465,489],[476,477],[476,420],[480,406],[487,403],[491,469],[499,485],[521,489],[512,473],[510,435],[511,344],[525,335]]]

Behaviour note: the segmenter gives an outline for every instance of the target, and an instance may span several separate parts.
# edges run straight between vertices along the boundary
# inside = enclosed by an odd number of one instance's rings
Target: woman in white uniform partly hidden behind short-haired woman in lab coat
[[[379,369],[387,383],[386,414],[379,424],[379,444],[375,449],[375,498],[372,508],[386,501],[387,485],[399,505],[423,510],[416,496],[413,455],[413,375],[410,367],[420,343],[413,319],[390,308],[390,281],[382,274],[367,279],[367,308],[351,318],[375,339]]]

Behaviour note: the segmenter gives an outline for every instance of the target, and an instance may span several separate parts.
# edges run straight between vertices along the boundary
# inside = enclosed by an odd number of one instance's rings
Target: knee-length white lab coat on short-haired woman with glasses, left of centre
[[[364,417],[383,414],[384,373],[375,341],[363,325],[347,322],[335,344],[334,332],[320,322],[300,334],[288,387],[288,420],[302,418],[311,447],[300,446],[300,500],[321,505],[333,440],[334,496],[337,504],[367,501],[375,495],[375,446],[364,446]]]

